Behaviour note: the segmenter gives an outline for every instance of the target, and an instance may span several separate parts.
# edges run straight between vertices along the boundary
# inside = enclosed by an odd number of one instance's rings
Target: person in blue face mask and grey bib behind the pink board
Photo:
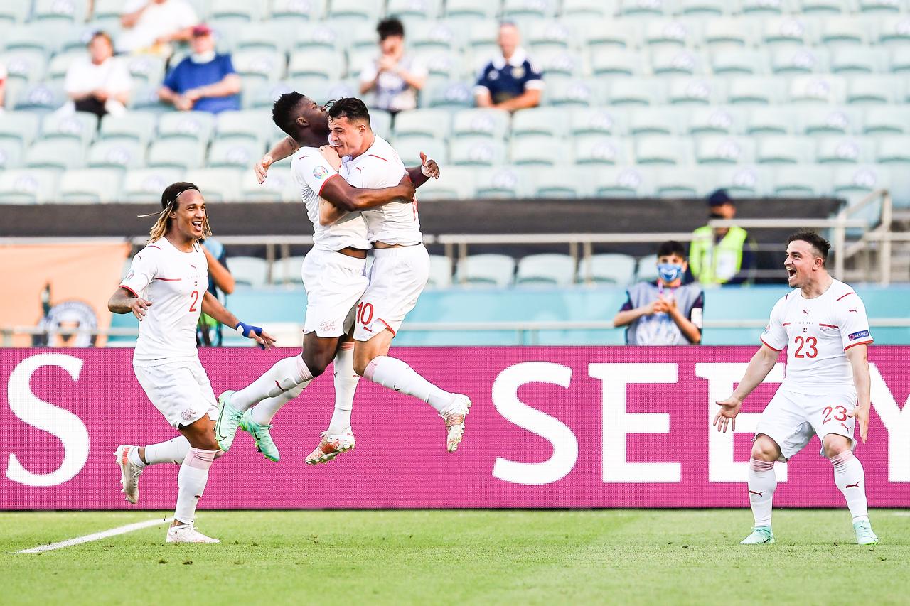
[[[670,240],[657,249],[656,282],[639,282],[626,291],[626,302],[613,326],[626,328],[626,345],[698,345],[702,342],[704,293],[683,284],[685,247]]]

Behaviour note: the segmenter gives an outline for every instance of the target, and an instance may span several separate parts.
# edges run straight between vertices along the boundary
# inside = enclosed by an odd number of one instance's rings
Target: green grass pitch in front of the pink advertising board
[[[165,526],[16,553],[166,514],[0,512],[0,604],[896,604],[910,601],[910,512],[778,510],[201,511],[220,545]],[[167,514],[169,515],[169,514]]]

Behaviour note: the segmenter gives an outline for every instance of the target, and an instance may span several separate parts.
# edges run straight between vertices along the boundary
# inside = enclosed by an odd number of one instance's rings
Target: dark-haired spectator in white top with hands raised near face
[[[373,107],[397,113],[417,108],[417,92],[427,82],[427,68],[404,54],[404,25],[392,17],[376,27],[379,57],[360,70],[360,94],[372,92]]]

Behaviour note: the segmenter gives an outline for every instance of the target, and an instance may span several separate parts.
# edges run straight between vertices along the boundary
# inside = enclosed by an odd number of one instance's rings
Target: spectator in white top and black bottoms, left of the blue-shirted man
[[[62,111],[122,116],[131,87],[126,64],[114,56],[111,36],[96,32],[88,40],[88,56],[79,57],[66,69],[64,89],[69,101]]]

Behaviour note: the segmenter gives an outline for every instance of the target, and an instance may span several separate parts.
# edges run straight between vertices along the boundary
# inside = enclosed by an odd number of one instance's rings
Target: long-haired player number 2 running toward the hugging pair
[[[133,354],[136,379],[167,422],[182,435],[145,448],[116,451],[126,500],[139,498],[138,478],[153,463],[180,463],[177,509],[167,542],[217,543],[196,530],[193,519],[206,488],[208,470],[221,453],[215,439],[217,401],[199,363],[196,327],[205,312],[261,347],[275,339],[262,328],[239,321],[208,292],[208,264],[202,241],[211,235],[206,201],[192,183],[168,186],[148,244],[136,253],[126,278],[107,302],[117,314],[139,320]]]

